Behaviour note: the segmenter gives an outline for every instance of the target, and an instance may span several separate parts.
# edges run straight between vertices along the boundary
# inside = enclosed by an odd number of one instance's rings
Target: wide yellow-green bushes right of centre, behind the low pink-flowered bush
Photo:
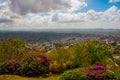
[[[62,73],[67,69],[87,67],[96,63],[106,65],[113,62],[109,47],[98,41],[82,42],[68,49],[57,48],[48,53],[48,56],[51,60],[50,71],[53,73]],[[111,63],[109,59],[112,60]]]

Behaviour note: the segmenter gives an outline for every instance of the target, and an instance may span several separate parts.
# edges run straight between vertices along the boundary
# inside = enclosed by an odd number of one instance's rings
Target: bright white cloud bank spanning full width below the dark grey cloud
[[[82,1],[84,3],[84,0],[81,0],[81,4],[83,4]],[[71,13],[71,11],[76,10],[78,7],[82,8],[83,6],[80,6],[80,4],[78,6],[76,4],[76,6],[65,12],[51,11],[47,12],[47,15],[45,15],[46,13],[27,13],[26,15],[20,16],[13,13],[9,9],[7,3],[2,3],[0,5],[0,19],[3,22],[0,23],[0,30],[37,30],[46,28],[120,28],[120,10],[116,6],[112,6],[104,12],[89,10],[84,13]]]

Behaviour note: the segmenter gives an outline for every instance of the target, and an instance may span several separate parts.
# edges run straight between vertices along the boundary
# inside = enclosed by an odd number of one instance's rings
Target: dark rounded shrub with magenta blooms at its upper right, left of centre
[[[31,55],[22,61],[21,75],[40,76],[49,71],[49,58],[47,56]]]

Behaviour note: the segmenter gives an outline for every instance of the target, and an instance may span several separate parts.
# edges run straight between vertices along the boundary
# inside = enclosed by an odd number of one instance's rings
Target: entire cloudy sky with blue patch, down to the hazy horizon
[[[120,0],[0,0],[0,30],[120,29]]]

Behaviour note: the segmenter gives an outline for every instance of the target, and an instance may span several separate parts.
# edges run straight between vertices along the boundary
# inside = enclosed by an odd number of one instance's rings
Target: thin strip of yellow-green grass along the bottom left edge
[[[58,75],[50,76],[47,78],[42,77],[21,77],[17,75],[0,75],[0,80],[59,80]]]

